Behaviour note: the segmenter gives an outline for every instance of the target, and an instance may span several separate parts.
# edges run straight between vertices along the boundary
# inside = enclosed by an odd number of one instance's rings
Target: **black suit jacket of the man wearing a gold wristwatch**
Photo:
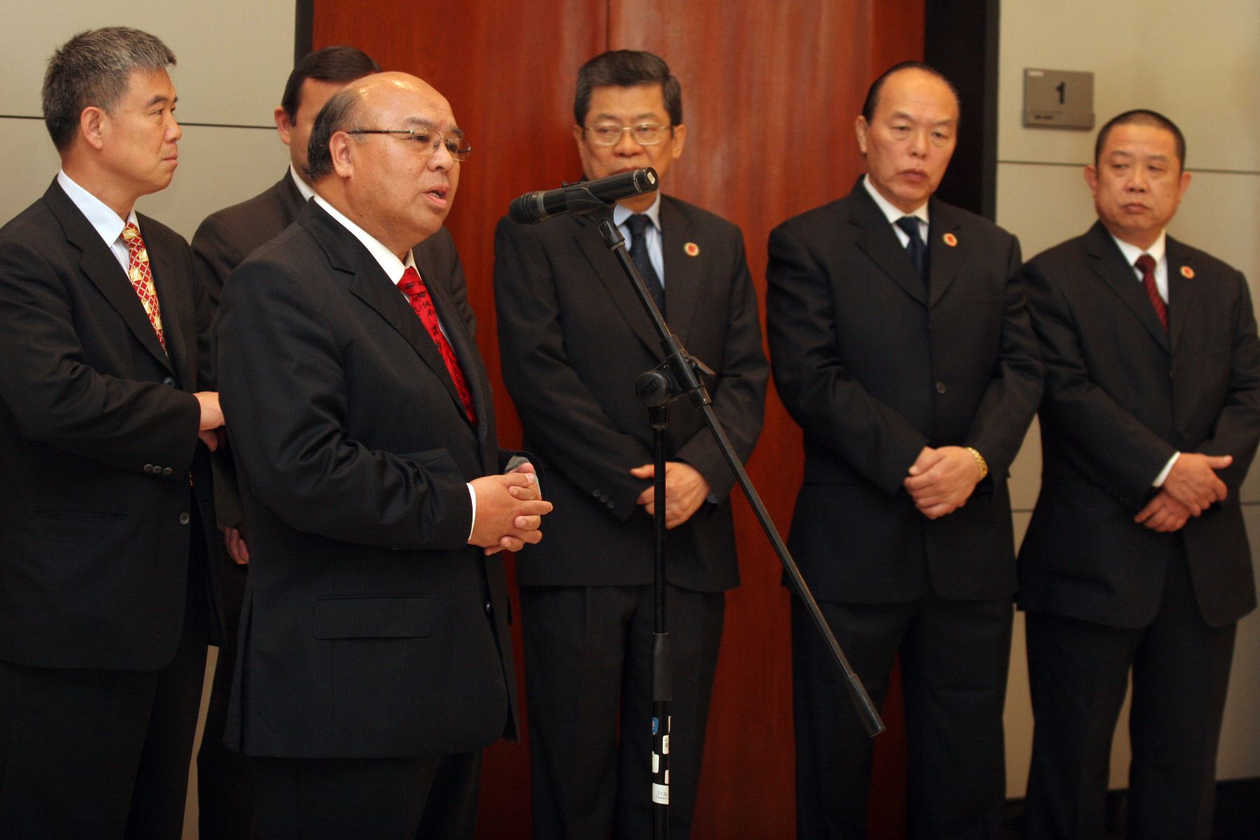
[[[1019,243],[935,198],[929,218],[926,288],[861,181],[770,234],[775,384],[805,433],[790,545],[819,598],[1014,592],[1007,476],[1041,394]],[[989,477],[930,521],[901,482],[924,446],[949,445]]]

